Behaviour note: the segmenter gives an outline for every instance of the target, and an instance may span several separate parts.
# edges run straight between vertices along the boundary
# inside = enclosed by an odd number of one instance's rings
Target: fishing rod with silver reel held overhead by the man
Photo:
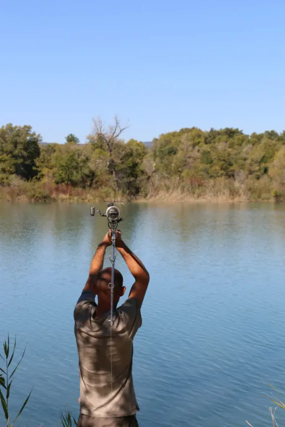
[[[123,204],[123,203],[122,203]],[[115,261],[116,261],[116,231],[118,224],[123,221],[123,218],[121,218],[121,212],[119,207],[115,206],[114,202],[111,202],[108,204],[106,212],[101,212],[100,209],[95,209],[95,206],[91,206],[90,208],[90,215],[91,217],[94,217],[95,213],[98,212],[101,217],[106,217],[108,221],[108,227],[112,232],[112,253],[109,255],[109,259],[112,264],[112,272],[111,272],[111,283],[109,283],[109,288],[111,290],[111,314],[110,314],[110,320],[108,321],[110,327],[114,325],[113,321],[113,303],[114,303],[114,276],[115,276]]]

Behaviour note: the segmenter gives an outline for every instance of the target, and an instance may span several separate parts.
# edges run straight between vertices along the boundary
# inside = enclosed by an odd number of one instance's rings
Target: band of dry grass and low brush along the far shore
[[[185,201],[185,202],[247,202],[285,200],[285,188],[277,188],[269,179],[238,182],[216,178],[203,183],[178,183],[175,180],[150,183],[144,194],[130,197],[112,188],[84,189],[41,181],[21,181],[0,186],[0,201],[5,202],[100,202],[121,201]]]

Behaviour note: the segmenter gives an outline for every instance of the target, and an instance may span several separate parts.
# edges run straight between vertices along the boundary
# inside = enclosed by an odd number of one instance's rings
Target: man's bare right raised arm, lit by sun
[[[123,242],[120,231],[116,233],[116,248],[135,278],[129,298],[135,298],[139,307],[141,307],[149,283],[149,273],[139,258]]]

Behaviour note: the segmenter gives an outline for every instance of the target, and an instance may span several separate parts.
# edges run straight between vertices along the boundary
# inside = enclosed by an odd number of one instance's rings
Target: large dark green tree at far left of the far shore
[[[13,174],[25,180],[37,175],[39,142],[41,136],[32,132],[31,126],[13,126],[9,123],[0,128],[0,182],[8,182]]]

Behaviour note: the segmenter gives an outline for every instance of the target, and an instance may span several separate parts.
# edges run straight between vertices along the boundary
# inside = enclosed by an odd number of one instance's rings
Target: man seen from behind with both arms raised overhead
[[[116,232],[116,248],[134,276],[128,299],[117,308],[125,293],[123,276],[115,270],[113,321],[110,327],[111,268],[102,270],[111,231],[99,244],[89,276],[74,309],[79,357],[80,416],[78,427],[137,427],[139,410],[132,377],[133,339],[141,327],[141,305],[149,274]],[[98,296],[98,305],[95,297]]]

